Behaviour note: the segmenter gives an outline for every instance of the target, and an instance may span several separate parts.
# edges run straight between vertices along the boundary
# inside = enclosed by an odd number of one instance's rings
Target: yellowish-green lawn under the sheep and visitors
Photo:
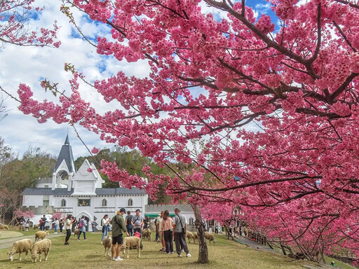
[[[25,235],[32,234],[32,230],[22,232]],[[221,269],[299,269],[303,264],[311,264],[309,261],[293,261],[281,255],[272,254],[264,251],[257,251],[242,244],[228,241],[222,235],[216,237],[216,246],[208,245],[210,263],[199,265],[196,263],[198,258],[198,245],[188,244],[191,258],[177,258],[176,254],[163,254],[158,250],[161,244],[156,242],[143,241],[144,249],[141,257],[137,258],[137,250],[130,250],[130,258],[123,261],[110,261],[109,257],[104,257],[104,247],[100,244],[100,233],[88,233],[88,240],[76,241],[72,235],[69,245],[64,245],[65,235],[51,238],[52,249],[48,261],[42,261],[41,267],[46,268],[114,268],[114,266],[124,266],[125,268],[158,268],[168,267],[178,268],[221,268]],[[0,242],[1,244],[1,242]],[[0,268],[39,268],[39,263],[32,263],[31,258],[27,261],[16,260],[8,261],[8,249],[0,249]],[[121,252],[121,256],[123,256]],[[316,264],[316,263],[312,263]]]

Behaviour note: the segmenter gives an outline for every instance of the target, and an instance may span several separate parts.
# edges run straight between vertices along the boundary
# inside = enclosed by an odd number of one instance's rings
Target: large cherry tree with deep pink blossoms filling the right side
[[[226,17],[204,13],[203,3]],[[312,246],[302,251],[308,256],[325,235],[358,253],[358,4],[272,0],[277,30],[244,0],[203,3],[65,5],[67,15],[73,5],[110,27],[111,37],[97,36],[97,53],[145,60],[150,74],[119,71],[95,81],[104,101],[116,106],[97,113],[81,98],[83,75],[67,64],[74,74],[70,95],[45,81],[43,88],[57,92],[60,104],[39,102],[21,84],[20,110],[40,123],[79,123],[163,165],[196,165],[146,184],[103,161],[102,172],[123,186],[145,187],[154,197],[166,183],[174,200],[240,205],[258,216],[257,225],[273,222],[272,237],[307,238]],[[144,171],[151,177],[148,167]],[[199,262],[207,261],[200,255]]]

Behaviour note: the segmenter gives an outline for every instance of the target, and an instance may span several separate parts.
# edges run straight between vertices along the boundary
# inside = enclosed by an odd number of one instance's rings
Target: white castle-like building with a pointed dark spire
[[[110,217],[124,207],[135,213],[136,209],[145,214],[148,195],[139,188],[102,188],[100,174],[95,165],[85,160],[76,172],[69,137],[65,139],[50,179],[39,179],[35,188],[22,192],[22,206],[32,209],[35,216],[32,223],[38,224],[43,214],[50,219],[53,212],[72,214],[79,219],[99,223],[104,216]],[[47,224],[48,225],[48,224]]]

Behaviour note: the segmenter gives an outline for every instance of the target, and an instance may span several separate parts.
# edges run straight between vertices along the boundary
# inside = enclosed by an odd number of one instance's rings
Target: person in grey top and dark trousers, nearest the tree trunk
[[[173,218],[173,235],[175,236],[176,252],[178,257],[182,257],[181,249],[186,252],[187,257],[191,257],[186,242],[187,220],[186,216],[178,208],[175,209],[175,218]]]

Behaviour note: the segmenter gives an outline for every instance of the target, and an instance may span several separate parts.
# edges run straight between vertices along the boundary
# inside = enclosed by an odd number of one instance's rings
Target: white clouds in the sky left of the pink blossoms
[[[56,49],[6,45],[4,50],[0,50],[0,85],[2,88],[17,97],[16,91],[19,83],[26,83],[34,90],[35,99],[48,99],[58,102],[57,98],[49,92],[44,92],[39,85],[39,81],[47,78],[49,81],[59,83],[61,90],[69,92],[68,80],[71,76],[64,70],[65,62],[74,64],[76,69],[83,72],[90,82],[117,74],[120,70],[130,76],[140,78],[144,78],[149,74],[146,61],[129,64],[127,62],[118,62],[114,57],[97,55],[96,48],[81,39],[78,34],[74,34],[76,29],[69,24],[69,19],[60,12],[60,4],[61,1],[36,1],[37,6],[46,6],[46,9],[39,15],[39,18],[30,21],[29,25],[33,29],[48,28],[56,20],[57,25],[60,26],[57,36],[62,42],[62,46]],[[91,38],[95,38],[95,34],[99,32],[107,38],[110,36],[109,32],[106,32],[108,29],[106,26],[98,24],[95,26],[81,17],[82,13],[76,10],[73,11],[74,18],[84,34]],[[102,63],[106,69],[100,69],[99,63]],[[100,113],[114,107],[113,103],[102,102],[100,94],[84,83],[81,85],[80,92],[84,99],[99,109]],[[6,144],[11,146],[13,151],[22,155],[31,145],[57,155],[69,129],[69,139],[74,151],[74,157],[88,155],[86,147],[76,138],[75,132],[69,125],[57,125],[52,120],[40,124],[32,116],[24,115],[21,111],[18,111],[18,102],[10,98],[5,100],[4,105],[10,111],[8,111],[8,116],[0,121],[0,136],[5,139]],[[83,127],[77,127],[77,130],[81,139],[86,142],[90,149],[93,146],[100,148],[112,146],[105,144],[99,139],[98,135],[83,129]]]

